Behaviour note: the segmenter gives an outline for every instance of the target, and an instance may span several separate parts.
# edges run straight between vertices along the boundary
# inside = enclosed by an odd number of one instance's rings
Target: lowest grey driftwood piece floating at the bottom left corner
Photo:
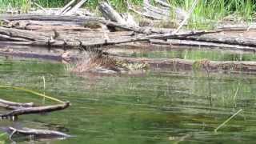
[[[43,138],[69,138],[69,134],[65,134],[55,130],[38,130],[30,128],[16,129],[14,127],[9,127],[9,130],[12,131],[10,134],[10,139],[14,134],[23,134],[23,135],[33,135],[35,137]]]

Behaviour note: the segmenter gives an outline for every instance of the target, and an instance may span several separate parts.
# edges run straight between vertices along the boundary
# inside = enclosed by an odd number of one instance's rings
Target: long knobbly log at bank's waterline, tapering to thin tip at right
[[[138,41],[149,41],[150,39],[168,39],[168,38],[186,38],[192,35],[201,35],[201,34],[211,34],[216,33],[218,31],[191,31],[189,33],[181,33],[181,34],[151,34],[144,35],[138,34],[134,36],[120,36],[119,38],[110,38],[106,39],[105,37],[101,38],[82,38],[82,35],[72,34],[45,34],[42,32],[28,31],[28,30],[17,30],[17,29],[7,29],[4,27],[0,27],[0,34],[4,34],[5,36],[14,37],[14,38],[26,38],[27,44],[30,46],[106,46],[106,45],[114,45],[126,42],[138,42]],[[111,34],[111,33],[110,33]],[[1,35],[0,35],[1,36]],[[77,37],[80,38],[77,38]],[[26,42],[25,41],[25,42]]]

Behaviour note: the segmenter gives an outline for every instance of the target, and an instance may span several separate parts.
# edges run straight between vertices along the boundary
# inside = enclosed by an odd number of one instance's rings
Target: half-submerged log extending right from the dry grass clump
[[[143,62],[150,66],[150,69],[162,70],[205,70],[208,72],[256,74],[256,62],[239,61],[209,61],[186,60],[186,59],[164,59],[164,58],[122,58],[114,57],[126,62]]]

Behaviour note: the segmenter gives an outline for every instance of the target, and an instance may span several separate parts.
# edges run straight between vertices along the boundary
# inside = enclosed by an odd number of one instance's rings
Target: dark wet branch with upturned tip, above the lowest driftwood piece
[[[11,110],[6,114],[0,114],[0,118],[13,118],[22,114],[38,114],[38,113],[52,112],[56,110],[66,109],[68,106],[70,106],[70,102],[65,102],[63,104],[54,105],[54,106],[36,106],[36,107],[21,108],[17,110]]]

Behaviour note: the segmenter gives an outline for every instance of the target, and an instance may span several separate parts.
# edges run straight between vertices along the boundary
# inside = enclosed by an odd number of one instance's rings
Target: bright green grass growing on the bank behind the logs
[[[36,0],[43,7],[62,7],[70,0]],[[98,3],[102,0],[88,0],[85,7],[95,10]],[[126,0],[109,0],[119,12],[125,12],[127,9]],[[129,0],[134,6],[141,6],[143,0]],[[168,0],[170,6],[181,7],[184,10],[190,10],[193,0]],[[22,11],[30,8],[30,0],[0,0],[0,8],[8,6],[18,7]],[[251,0],[200,0],[195,8],[189,22],[189,27],[209,27],[214,22],[221,22],[227,17],[236,21],[250,22],[256,11],[256,2]]]

